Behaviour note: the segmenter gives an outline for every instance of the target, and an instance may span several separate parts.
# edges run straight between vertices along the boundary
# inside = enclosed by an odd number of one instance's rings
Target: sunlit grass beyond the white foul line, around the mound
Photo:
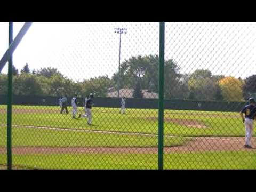
[[[6,109],[1,106],[0,109]],[[71,119],[69,115],[58,113],[59,107],[13,106],[13,125],[51,126],[62,128],[138,132],[157,134],[158,120],[155,109],[126,109],[126,115],[119,114],[118,108],[93,108],[93,124],[86,119]],[[80,107],[79,111],[83,111]],[[38,110],[38,111],[34,111]],[[54,113],[51,110],[56,110]],[[50,111],[50,112],[49,112]],[[164,134],[177,136],[244,136],[244,125],[238,113],[215,111],[165,110]],[[207,128],[187,127],[171,122],[170,119],[190,119],[204,123]],[[0,114],[0,122],[6,124],[6,113]],[[255,135],[255,133],[254,133]]]

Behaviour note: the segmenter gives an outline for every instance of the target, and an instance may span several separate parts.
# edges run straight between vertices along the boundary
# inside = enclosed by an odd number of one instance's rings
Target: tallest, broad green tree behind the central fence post
[[[179,67],[172,59],[165,61],[164,65],[164,97],[169,99],[175,97],[173,90],[174,85],[179,84]],[[116,89],[118,88],[118,83],[120,83],[120,89],[134,89],[134,85],[137,84],[139,79],[141,89],[149,89],[150,91],[158,93],[158,67],[158,55],[146,55],[144,57],[139,55],[125,60],[120,66],[120,78],[118,78],[118,72],[113,76]]]

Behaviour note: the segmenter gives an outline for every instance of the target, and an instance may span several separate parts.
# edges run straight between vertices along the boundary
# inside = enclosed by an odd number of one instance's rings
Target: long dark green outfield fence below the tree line
[[[67,97],[70,101],[72,98]],[[84,98],[77,98],[81,101],[78,106],[85,105]],[[119,108],[118,98],[95,98],[95,107]],[[13,95],[13,105],[25,106],[59,106],[59,98],[54,96],[25,96]],[[0,95],[0,105],[7,105],[7,95]],[[239,112],[246,102],[225,102],[225,101],[202,101],[202,100],[164,100],[164,109],[173,110],[203,110],[203,111],[223,111]],[[71,107],[71,103],[68,103]],[[127,98],[126,108],[132,109],[158,109],[158,99]]]

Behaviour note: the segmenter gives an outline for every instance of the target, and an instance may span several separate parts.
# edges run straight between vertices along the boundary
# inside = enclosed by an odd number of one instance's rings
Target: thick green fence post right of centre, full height
[[[164,169],[164,22],[159,28],[158,169]]]

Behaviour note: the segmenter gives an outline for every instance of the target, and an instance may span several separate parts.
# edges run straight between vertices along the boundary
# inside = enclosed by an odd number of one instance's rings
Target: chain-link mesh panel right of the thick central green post
[[[165,59],[173,74],[165,76],[165,99],[179,105],[165,110],[165,135],[186,138],[184,145],[166,148],[167,169],[255,169],[238,113],[256,91],[255,27],[166,23]]]

